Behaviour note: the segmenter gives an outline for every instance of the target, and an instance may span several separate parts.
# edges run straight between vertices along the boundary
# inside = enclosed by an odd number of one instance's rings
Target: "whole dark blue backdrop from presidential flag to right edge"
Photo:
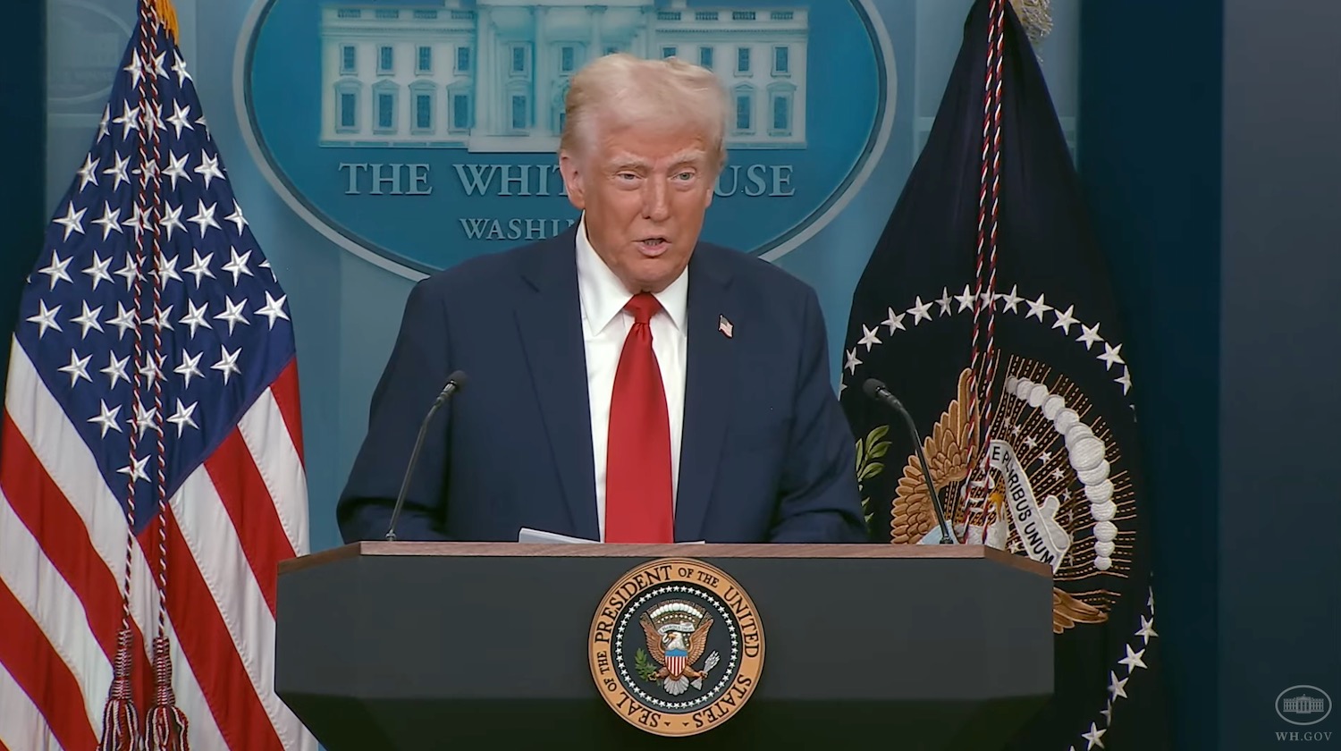
[[[1341,699],[1341,3],[1084,12],[1081,169],[1144,374],[1176,746],[1336,743],[1341,715],[1277,701]]]

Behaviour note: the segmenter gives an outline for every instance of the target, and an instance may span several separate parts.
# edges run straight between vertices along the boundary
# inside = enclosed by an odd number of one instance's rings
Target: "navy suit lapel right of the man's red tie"
[[[703,539],[727,430],[735,378],[734,342],[719,330],[720,316],[736,319],[727,296],[731,275],[711,247],[700,247],[689,262],[688,355],[684,389],[684,429],[680,483],[676,492],[675,538]]]

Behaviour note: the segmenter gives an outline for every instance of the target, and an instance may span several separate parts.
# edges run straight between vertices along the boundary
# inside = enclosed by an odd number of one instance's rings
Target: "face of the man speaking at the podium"
[[[586,212],[597,255],[630,292],[675,282],[699,241],[716,174],[708,143],[685,129],[610,127],[559,169],[569,200]]]

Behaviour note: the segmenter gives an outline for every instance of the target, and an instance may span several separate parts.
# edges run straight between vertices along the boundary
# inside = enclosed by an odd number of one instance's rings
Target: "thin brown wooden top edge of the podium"
[[[680,543],[613,544],[516,542],[355,542],[279,563],[287,574],[345,558],[362,555],[469,555],[469,557],[561,557],[561,558],[982,558],[1051,577],[1051,567],[1025,555],[982,544],[789,544],[789,543]]]

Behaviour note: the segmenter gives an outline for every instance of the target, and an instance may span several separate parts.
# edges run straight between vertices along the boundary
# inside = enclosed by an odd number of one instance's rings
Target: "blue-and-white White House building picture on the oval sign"
[[[611,52],[679,56],[731,94],[730,148],[803,148],[806,8],[441,0],[322,8],[323,146],[552,152],[569,79]]]

